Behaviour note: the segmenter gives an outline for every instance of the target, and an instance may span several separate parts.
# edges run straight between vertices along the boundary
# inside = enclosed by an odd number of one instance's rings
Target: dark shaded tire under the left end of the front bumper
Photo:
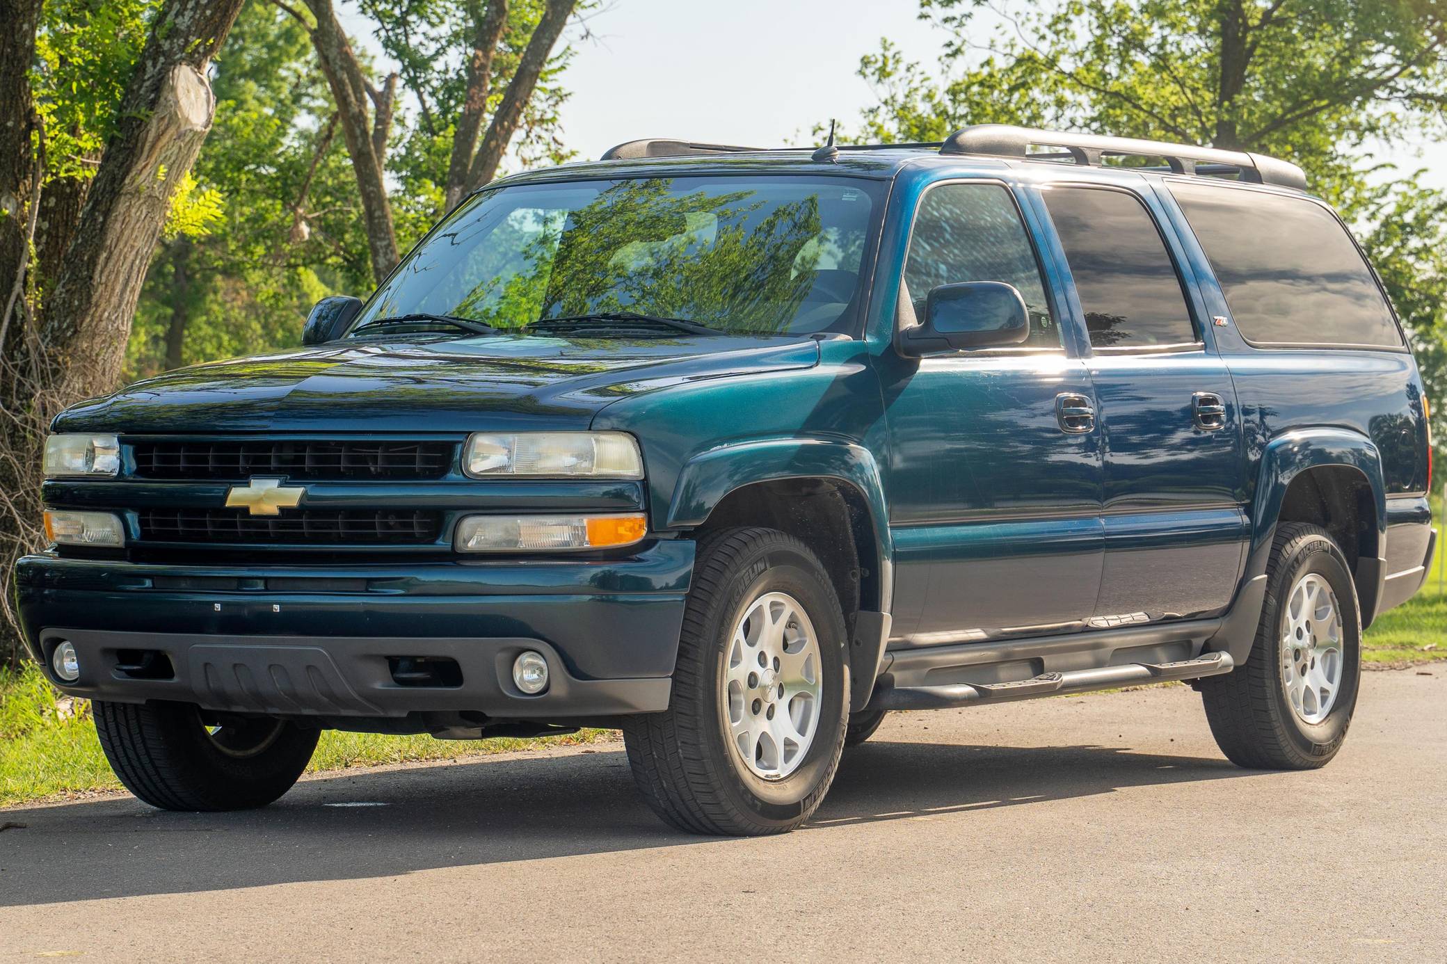
[[[190,703],[96,702],[101,750],[126,789],[164,811],[245,811],[289,790],[321,732],[224,716],[208,727]]]

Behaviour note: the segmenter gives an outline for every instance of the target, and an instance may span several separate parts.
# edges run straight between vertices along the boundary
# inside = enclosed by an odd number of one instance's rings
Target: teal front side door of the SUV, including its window
[[[1003,184],[936,184],[919,201],[904,265],[913,310],[932,287],[965,281],[1014,285],[1030,336],[1019,349],[884,356],[894,648],[1079,630],[1100,588],[1094,392]]]

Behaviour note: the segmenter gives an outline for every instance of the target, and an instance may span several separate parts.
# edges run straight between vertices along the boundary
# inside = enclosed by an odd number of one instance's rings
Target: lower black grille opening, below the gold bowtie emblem
[[[282,515],[229,508],[140,511],[140,538],[153,543],[427,546],[441,531],[443,514],[428,510],[295,510]]]

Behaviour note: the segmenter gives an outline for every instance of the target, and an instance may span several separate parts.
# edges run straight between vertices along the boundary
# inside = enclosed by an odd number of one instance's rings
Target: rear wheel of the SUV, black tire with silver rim
[[[1278,525],[1250,657],[1201,680],[1215,743],[1242,767],[1325,766],[1346,740],[1360,676],[1362,617],[1346,556],[1317,525]]]

